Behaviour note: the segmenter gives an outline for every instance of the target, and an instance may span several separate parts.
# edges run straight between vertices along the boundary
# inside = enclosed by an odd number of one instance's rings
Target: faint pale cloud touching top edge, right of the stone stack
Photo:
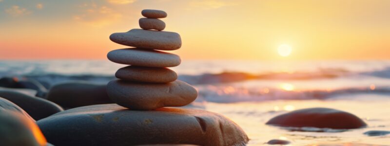
[[[194,0],[190,4],[193,7],[204,9],[216,9],[224,6],[235,5],[234,2],[226,0]]]

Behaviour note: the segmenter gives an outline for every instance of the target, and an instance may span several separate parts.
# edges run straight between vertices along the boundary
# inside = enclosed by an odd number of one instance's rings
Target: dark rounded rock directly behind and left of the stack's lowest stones
[[[55,85],[50,89],[46,98],[64,109],[114,103],[108,97],[105,84],[89,82],[68,82]]]

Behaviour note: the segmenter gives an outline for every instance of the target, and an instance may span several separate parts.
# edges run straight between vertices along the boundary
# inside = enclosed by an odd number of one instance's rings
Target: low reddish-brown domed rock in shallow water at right
[[[353,129],[367,126],[359,117],[349,112],[328,108],[310,108],[291,111],[272,118],[266,124],[280,127],[333,129]]]

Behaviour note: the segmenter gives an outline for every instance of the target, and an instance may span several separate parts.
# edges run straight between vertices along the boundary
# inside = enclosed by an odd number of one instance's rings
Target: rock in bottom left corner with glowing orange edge
[[[0,146],[46,145],[46,139],[34,121],[20,112],[0,109]]]

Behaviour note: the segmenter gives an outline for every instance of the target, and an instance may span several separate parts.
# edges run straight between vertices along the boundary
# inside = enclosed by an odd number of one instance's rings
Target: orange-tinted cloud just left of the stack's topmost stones
[[[94,27],[105,27],[117,23],[122,18],[122,15],[107,6],[99,6],[96,3],[84,3],[80,6],[79,15],[73,18],[83,24]]]

